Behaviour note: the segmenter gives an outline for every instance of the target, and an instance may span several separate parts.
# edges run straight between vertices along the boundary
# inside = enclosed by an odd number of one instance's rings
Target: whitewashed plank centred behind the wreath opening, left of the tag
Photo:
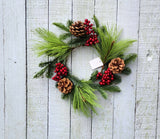
[[[94,14],[94,0],[73,0],[73,20],[89,20]],[[91,68],[89,61],[93,58],[92,48],[83,47],[73,51],[72,73],[80,79],[89,79]],[[83,73],[83,74],[82,74]],[[73,110],[71,113],[71,138],[89,139],[91,138],[91,118],[85,117],[82,113]]]

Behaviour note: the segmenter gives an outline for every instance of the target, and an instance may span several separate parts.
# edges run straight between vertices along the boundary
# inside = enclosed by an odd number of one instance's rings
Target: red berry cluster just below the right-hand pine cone
[[[105,72],[104,72],[104,74],[103,74],[103,76],[102,76],[102,79],[101,79],[101,81],[99,82],[99,84],[100,85],[109,85],[110,83],[111,83],[111,81],[113,81],[114,80],[114,75],[113,75],[113,73],[110,71],[110,69],[108,68]]]

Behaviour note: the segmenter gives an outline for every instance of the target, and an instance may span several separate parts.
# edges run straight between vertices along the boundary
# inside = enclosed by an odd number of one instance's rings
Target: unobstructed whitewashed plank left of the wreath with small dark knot
[[[3,0],[5,138],[26,138],[25,0]]]

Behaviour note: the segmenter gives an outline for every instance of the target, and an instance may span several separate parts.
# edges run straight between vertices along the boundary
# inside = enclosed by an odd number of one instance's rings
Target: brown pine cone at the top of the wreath
[[[73,23],[69,28],[69,31],[76,37],[85,35],[85,25],[81,21]]]

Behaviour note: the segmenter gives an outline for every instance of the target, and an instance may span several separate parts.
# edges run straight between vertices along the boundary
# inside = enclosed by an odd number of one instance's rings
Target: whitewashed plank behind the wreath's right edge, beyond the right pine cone
[[[138,40],[139,21],[139,0],[118,0],[117,26],[123,29],[123,39]],[[127,52],[137,53],[135,42]],[[129,76],[122,76],[122,83],[119,85],[121,92],[114,95],[114,139],[134,138],[134,109],[136,91],[136,68],[134,62],[129,65],[132,73]]]

